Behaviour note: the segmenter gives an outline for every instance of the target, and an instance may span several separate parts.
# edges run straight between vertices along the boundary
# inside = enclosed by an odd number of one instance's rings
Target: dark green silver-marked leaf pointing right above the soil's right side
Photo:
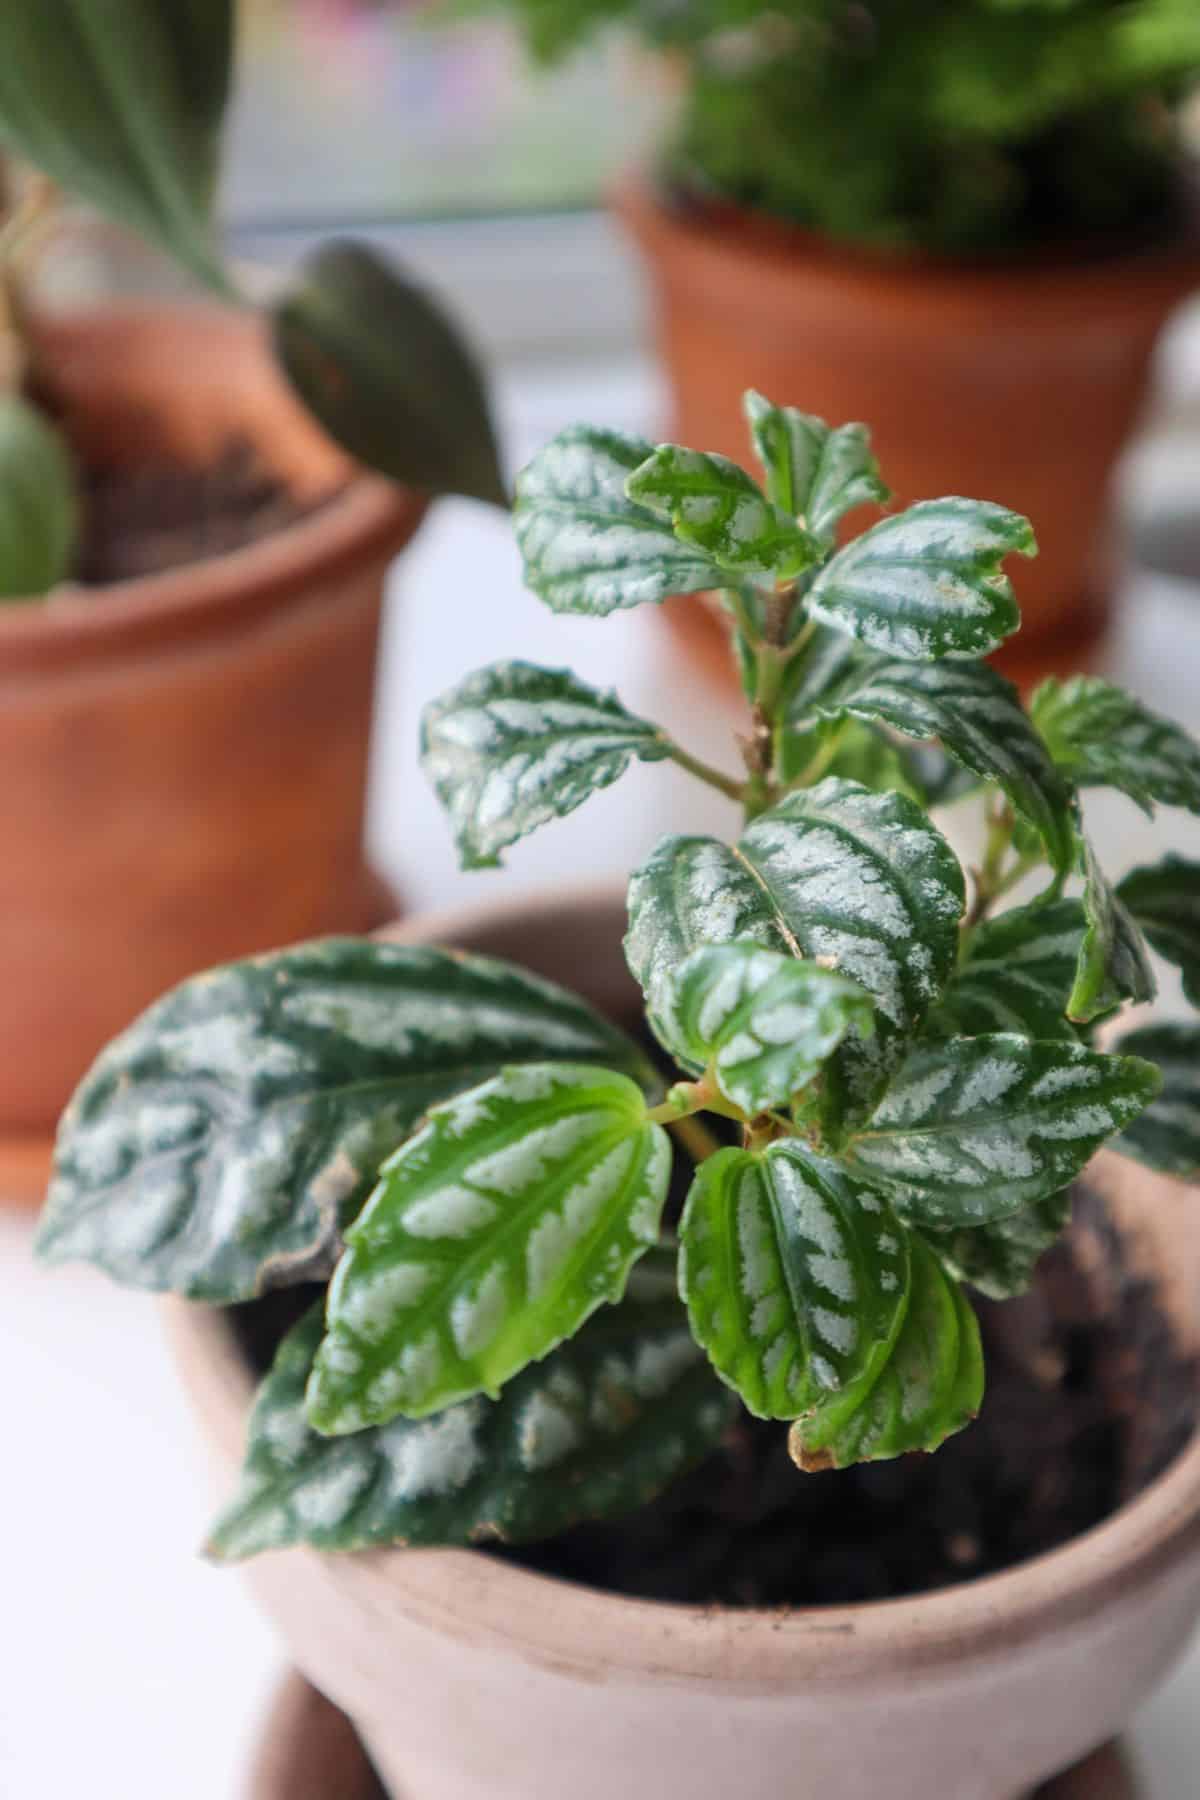
[[[1159,1091],[1135,1057],[1009,1031],[912,1051],[849,1168],[916,1226],[982,1226],[1058,1193]]]

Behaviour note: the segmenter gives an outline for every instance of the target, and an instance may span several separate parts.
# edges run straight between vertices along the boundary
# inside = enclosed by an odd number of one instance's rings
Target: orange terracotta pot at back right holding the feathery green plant
[[[1105,619],[1108,482],[1155,340],[1200,288],[1200,238],[1110,259],[955,265],[851,252],[736,212],[615,198],[646,257],[669,432],[750,464],[741,392],[865,419],[901,504],[943,493],[1027,513],[1016,677],[1078,666]],[[864,515],[865,517],[865,515]],[[682,630],[712,637],[693,603]]]

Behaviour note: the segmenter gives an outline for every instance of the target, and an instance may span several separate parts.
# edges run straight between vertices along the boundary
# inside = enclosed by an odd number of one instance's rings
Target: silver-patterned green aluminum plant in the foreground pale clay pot
[[[738,772],[527,662],[423,727],[466,866],[639,760],[739,803],[734,842],[666,837],[630,884],[673,1073],[522,968],[335,940],[185,983],[63,1120],[45,1256],[209,1301],[329,1278],[264,1377],[216,1555],[542,1537],[651,1498],[738,1404],[804,1471],[932,1451],[984,1391],[968,1285],[1029,1283],[1097,1145],[1200,1172],[1200,1028],[1094,1048],[1153,992],[1142,929],[1200,1001],[1200,866],[1114,891],[1079,810],[1101,783],[1200,810],[1200,754],[1096,679],[1029,716],[981,661],[1018,625],[1024,518],[927,500],[838,547],[887,500],[867,432],[747,412],[763,486],[576,428],[516,493],[558,612],[721,594]],[[930,819],[966,790],[970,880]]]

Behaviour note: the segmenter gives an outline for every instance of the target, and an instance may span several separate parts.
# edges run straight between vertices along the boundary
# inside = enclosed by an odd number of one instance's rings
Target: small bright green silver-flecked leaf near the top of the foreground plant
[[[817,560],[817,545],[808,533],[772,506],[729,457],[658,445],[633,470],[624,491],[721,569],[788,580]]]

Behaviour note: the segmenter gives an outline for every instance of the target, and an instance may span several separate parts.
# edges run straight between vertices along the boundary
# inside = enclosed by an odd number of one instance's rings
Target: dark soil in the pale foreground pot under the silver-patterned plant
[[[234,1309],[259,1370],[317,1292]],[[1083,1184],[1033,1291],[973,1301],[988,1391],[977,1422],[936,1456],[801,1474],[786,1426],[743,1413],[720,1451],[639,1512],[477,1553],[640,1598],[846,1606],[997,1575],[1052,1550],[1186,1445],[1196,1372]]]

